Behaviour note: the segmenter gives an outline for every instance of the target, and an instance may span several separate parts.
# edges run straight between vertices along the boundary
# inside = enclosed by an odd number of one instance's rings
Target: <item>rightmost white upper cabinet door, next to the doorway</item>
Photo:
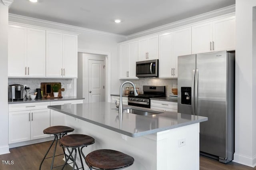
[[[63,77],[77,78],[77,36],[63,34]]]

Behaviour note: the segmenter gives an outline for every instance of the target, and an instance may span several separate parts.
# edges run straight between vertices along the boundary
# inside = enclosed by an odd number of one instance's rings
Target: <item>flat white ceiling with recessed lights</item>
[[[9,13],[129,36],[235,0],[14,0]],[[115,19],[122,22],[116,24]]]

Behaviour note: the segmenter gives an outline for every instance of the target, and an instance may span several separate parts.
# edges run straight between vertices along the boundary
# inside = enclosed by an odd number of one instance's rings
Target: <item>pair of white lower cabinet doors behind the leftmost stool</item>
[[[43,133],[48,127],[50,109],[9,112],[9,144],[49,137]]]

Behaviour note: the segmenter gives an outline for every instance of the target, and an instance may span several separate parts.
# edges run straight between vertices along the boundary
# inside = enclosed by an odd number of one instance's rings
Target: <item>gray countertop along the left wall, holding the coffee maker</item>
[[[8,100],[8,104],[17,104],[17,103],[34,103],[34,102],[45,102],[45,101],[65,101],[65,100],[80,100],[84,99],[82,97],[59,97],[59,98],[42,98],[42,99],[24,99],[21,101],[10,101]]]

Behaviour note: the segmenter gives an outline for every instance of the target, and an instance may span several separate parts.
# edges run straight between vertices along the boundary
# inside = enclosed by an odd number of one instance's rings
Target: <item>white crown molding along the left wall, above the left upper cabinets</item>
[[[10,23],[12,23],[12,22],[13,23],[22,23],[22,24],[39,26],[39,27],[44,27],[44,28],[56,29],[56,30],[68,30],[70,32],[93,33],[93,34],[98,34],[98,35],[102,35],[102,36],[121,38],[123,40],[127,39],[127,36],[123,36],[123,35],[119,35],[119,34],[113,34],[113,33],[109,33],[109,32],[92,30],[92,29],[82,28],[82,27],[77,27],[77,26],[71,26],[68,24],[61,24],[61,23],[57,23],[57,22],[46,21],[46,20],[41,20],[41,19],[31,18],[31,17],[26,17],[26,16],[20,16],[20,15],[10,14],[10,13],[9,13],[9,22]]]

